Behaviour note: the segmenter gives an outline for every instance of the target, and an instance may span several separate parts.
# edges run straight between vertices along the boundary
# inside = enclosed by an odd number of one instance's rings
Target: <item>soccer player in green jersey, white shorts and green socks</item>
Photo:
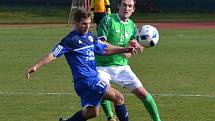
[[[143,50],[136,40],[136,26],[129,19],[135,10],[135,0],[120,0],[119,11],[116,14],[105,16],[100,22],[98,36],[105,36],[107,42],[114,46],[134,46]],[[107,57],[96,56],[97,69],[100,79],[109,83],[113,82],[127,88],[139,98],[149,112],[153,121],[160,121],[157,105],[149,92],[143,87],[141,81],[128,65],[131,54],[118,54]],[[103,101],[106,116],[113,115],[110,102]]]

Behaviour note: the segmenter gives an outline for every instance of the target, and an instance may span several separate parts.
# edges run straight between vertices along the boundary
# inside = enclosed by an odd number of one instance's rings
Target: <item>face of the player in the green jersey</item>
[[[127,21],[134,10],[135,8],[133,0],[122,0],[119,6],[119,16],[123,21]]]

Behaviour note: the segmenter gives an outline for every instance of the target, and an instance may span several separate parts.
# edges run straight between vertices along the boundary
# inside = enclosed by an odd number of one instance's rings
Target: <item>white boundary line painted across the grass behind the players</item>
[[[0,95],[76,95],[69,92],[1,92]],[[132,96],[134,94],[124,94],[125,96]],[[160,97],[207,97],[215,98],[215,95],[200,95],[200,94],[152,94]]]

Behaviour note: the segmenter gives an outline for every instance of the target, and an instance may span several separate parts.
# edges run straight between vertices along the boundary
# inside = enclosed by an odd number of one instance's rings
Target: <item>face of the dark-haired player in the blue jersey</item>
[[[75,24],[76,29],[81,33],[81,34],[87,34],[90,28],[90,23],[91,23],[91,18],[82,18],[80,22],[77,22]]]

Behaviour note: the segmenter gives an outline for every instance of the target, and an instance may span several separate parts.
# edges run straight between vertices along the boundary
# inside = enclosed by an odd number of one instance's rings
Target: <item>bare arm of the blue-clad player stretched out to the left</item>
[[[55,60],[56,57],[52,54],[49,53],[46,56],[44,56],[42,59],[40,59],[35,65],[33,65],[32,67],[30,67],[27,72],[26,72],[26,78],[30,79],[32,74],[34,72],[36,72],[39,68],[41,68],[42,66],[52,62],[53,60]]]

